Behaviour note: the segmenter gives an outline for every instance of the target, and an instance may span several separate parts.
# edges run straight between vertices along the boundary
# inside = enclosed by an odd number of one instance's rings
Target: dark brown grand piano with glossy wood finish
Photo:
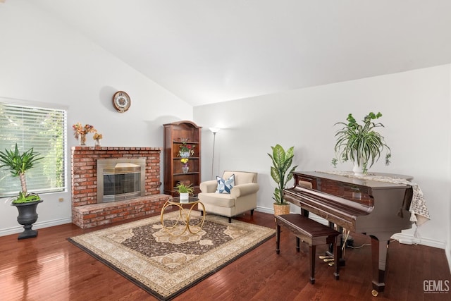
[[[293,178],[293,187],[285,189],[283,195],[285,200],[301,207],[302,214],[308,216],[312,212],[351,232],[371,237],[371,293],[377,296],[383,292],[390,237],[412,228],[408,212],[412,186],[314,171],[295,172]]]

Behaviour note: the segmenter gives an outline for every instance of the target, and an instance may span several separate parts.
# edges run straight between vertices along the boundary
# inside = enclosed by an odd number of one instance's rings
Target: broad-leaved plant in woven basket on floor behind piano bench
[[[273,161],[271,166],[271,177],[276,182],[277,187],[274,189],[274,215],[289,214],[290,204],[283,199],[283,189],[288,181],[293,178],[293,171],[297,166],[290,167],[295,156],[295,147],[290,147],[285,152],[285,149],[280,145],[271,147],[272,154],[268,154]]]

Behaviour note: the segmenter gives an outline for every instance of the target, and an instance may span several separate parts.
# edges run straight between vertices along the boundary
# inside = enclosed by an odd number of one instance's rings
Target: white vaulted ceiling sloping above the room
[[[451,63],[449,0],[28,1],[193,106]]]

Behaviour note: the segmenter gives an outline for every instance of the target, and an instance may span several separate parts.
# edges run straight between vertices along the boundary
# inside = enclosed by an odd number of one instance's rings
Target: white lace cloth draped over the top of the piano
[[[409,180],[404,178],[392,178],[388,176],[378,176],[374,174],[366,174],[366,175],[355,175],[351,171],[318,171],[319,173],[330,173],[333,175],[345,176],[349,178],[360,178],[364,180],[375,180],[379,182],[385,183],[393,183],[393,184],[405,184],[412,186],[413,195],[412,202],[410,203],[410,221],[414,221],[416,226],[421,226],[426,223],[426,221],[430,220],[428,207],[426,206],[426,201],[424,200],[423,192],[420,187],[416,183],[412,183]]]

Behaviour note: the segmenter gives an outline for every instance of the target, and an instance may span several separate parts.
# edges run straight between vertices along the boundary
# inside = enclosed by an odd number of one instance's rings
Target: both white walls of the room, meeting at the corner
[[[32,4],[1,4],[0,41],[0,97],[66,107],[69,159],[76,145],[70,126],[76,122],[94,125],[104,146],[161,147],[163,123],[193,119],[190,105]],[[333,124],[345,121],[347,113],[361,119],[381,111],[393,164],[379,162],[371,170],[414,176],[432,217],[420,228],[421,243],[446,245],[451,257],[450,78],[445,65],[195,107],[194,121],[204,127],[202,178],[211,178],[208,128],[219,126],[213,176],[224,169],[259,172],[259,210],[272,211],[271,145],[294,145],[299,171],[328,170]],[[127,113],[111,106],[118,90],[132,99]],[[93,145],[91,137],[88,142]],[[69,168],[70,162],[68,176]],[[44,196],[35,228],[70,222],[68,186],[67,192]],[[16,216],[16,209],[0,202],[0,235],[20,232]]]

